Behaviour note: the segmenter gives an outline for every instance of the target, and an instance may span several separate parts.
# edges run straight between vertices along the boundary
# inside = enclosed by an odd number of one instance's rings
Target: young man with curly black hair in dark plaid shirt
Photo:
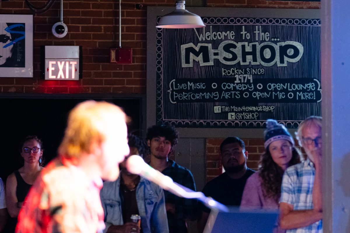
[[[170,176],[174,182],[196,191],[190,170],[168,158],[179,140],[175,128],[169,125],[153,125],[147,130],[146,139],[151,153],[149,165],[164,175]],[[169,232],[187,233],[186,220],[196,219],[197,200],[180,198],[166,190],[164,194]]]

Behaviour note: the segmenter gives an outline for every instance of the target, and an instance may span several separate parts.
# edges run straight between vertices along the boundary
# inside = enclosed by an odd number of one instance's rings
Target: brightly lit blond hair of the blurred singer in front
[[[66,158],[79,158],[90,153],[93,140],[103,142],[107,132],[128,121],[124,111],[117,105],[104,101],[84,101],[76,105],[68,116],[67,128],[58,154]]]

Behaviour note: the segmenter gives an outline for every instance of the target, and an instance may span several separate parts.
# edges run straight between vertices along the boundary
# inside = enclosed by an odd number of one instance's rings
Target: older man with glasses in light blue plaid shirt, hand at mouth
[[[322,118],[309,117],[297,139],[307,160],[286,169],[282,179],[280,225],[287,233],[322,233]]]

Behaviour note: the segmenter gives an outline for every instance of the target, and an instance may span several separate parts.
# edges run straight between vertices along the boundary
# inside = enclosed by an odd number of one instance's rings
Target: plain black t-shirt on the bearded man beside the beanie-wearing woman
[[[224,205],[239,206],[243,195],[244,185],[248,177],[254,172],[254,170],[248,168],[244,176],[239,179],[231,179],[226,172],[224,172],[209,181],[204,186],[202,192],[205,196],[212,197]],[[202,210],[210,212],[210,210],[204,205],[202,206]]]

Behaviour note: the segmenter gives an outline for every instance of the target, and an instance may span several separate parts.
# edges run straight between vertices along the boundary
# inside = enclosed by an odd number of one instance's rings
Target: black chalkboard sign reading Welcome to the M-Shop
[[[157,123],[297,128],[321,115],[320,19],[201,16],[205,28],[156,29]]]

